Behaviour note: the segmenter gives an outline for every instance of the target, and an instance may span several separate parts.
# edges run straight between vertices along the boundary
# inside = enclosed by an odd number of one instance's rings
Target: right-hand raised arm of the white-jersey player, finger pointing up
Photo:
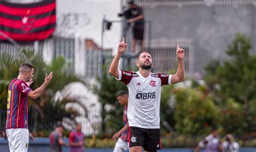
[[[185,69],[184,69],[184,63],[183,63],[183,59],[184,59],[184,49],[180,48],[180,45],[177,45],[177,59],[178,59],[178,69],[175,75],[172,75],[172,80],[171,83],[177,83],[177,82],[181,82],[184,80],[184,76],[185,76]]]

